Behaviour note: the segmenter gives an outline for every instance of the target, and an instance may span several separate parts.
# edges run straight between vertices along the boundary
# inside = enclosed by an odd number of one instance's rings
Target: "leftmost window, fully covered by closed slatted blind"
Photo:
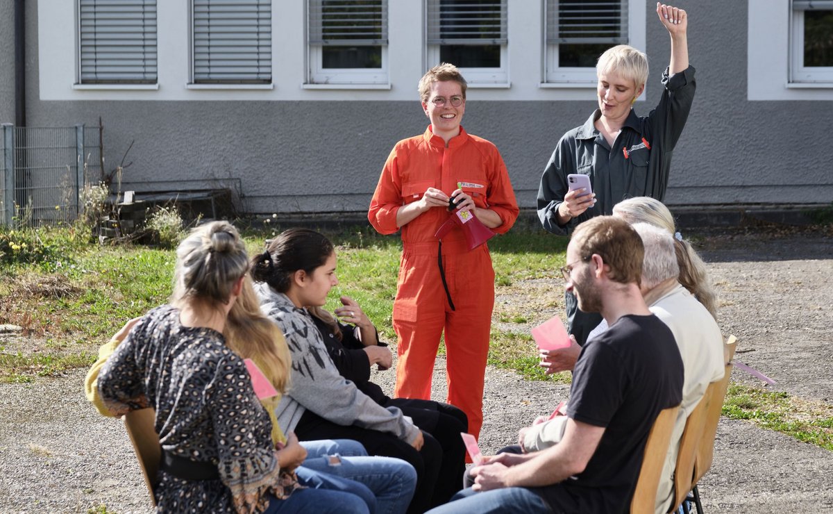
[[[92,40],[93,42],[85,42],[89,41],[90,39],[90,32],[85,31],[85,25],[87,23],[85,20],[87,19],[87,15],[85,14],[85,7],[92,7],[93,16],[92,16]],[[134,7],[134,8],[142,8],[142,12],[144,12],[145,8],[149,8],[147,12],[143,15],[140,15],[140,19],[132,20],[137,22],[136,26],[132,26],[133,28],[141,29],[142,37],[141,41],[136,44],[138,41],[137,38],[130,38],[125,37],[125,34],[129,34],[131,32],[125,30],[117,31],[121,37],[110,37],[113,42],[109,44],[98,44],[96,33],[99,28],[104,29],[104,32],[107,32],[107,28],[114,27],[124,27],[124,24],[118,23],[118,19],[122,19],[125,21],[131,21],[130,18],[122,17],[122,18],[111,18],[109,22],[102,22],[101,26],[97,23],[97,7],[102,7],[102,9],[107,9],[109,7],[111,9],[110,13],[111,16],[114,12],[118,12],[119,9],[117,7]],[[158,7],[157,7],[157,0],[77,0],[75,4],[75,12],[76,12],[76,37],[77,37],[77,55],[76,55],[76,81],[77,85],[83,85],[87,87],[108,87],[108,86],[154,86],[159,81],[159,69],[158,69]],[[133,33],[135,33],[134,31]],[[129,44],[133,43],[133,44]],[[141,50],[133,50],[132,52],[126,50],[124,47],[141,47]],[[117,50],[114,50],[117,49]],[[134,57],[132,59],[128,59],[124,55],[121,57],[116,55],[111,57],[110,59],[100,59],[98,57],[98,53],[112,53],[120,51],[122,54],[130,54],[130,53],[141,53],[142,57]],[[85,64],[89,59],[92,59],[92,63]],[[122,72],[122,77],[107,77],[107,75],[118,75],[115,72],[99,72],[98,67],[99,61],[118,61],[119,64],[116,66],[122,66],[122,63],[127,61],[132,61],[132,71]],[[101,65],[102,67],[106,67]],[[111,64],[111,66],[113,66]],[[141,71],[140,71],[141,70]],[[102,76],[99,76],[101,74]],[[131,77],[130,75],[136,75]],[[137,77],[138,75],[142,75],[142,77]]]

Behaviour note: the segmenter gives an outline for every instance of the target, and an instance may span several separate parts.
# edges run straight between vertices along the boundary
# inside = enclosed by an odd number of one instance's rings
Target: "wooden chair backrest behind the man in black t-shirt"
[[[645,454],[642,456],[642,467],[636,480],[636,490],[631,498],[631,514],[654,512],[656,503],[656,489],[660,485],[662,467],[666,462],[668,445],[671,442],[671,432],[674,430],[677,412],[680,406],[668,407],[660,411],[656,417]]]

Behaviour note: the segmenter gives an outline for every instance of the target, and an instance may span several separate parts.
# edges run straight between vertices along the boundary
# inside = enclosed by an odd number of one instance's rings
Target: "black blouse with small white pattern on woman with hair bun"
[[[121,416],[156,409],[162,449],[217,466],[219,480],[159,472],[158,512],[262,512],[267,492],[287,497],[270,431],[242,359],[210,328],[183,327],[179,310],[148,312],[98,377],[105,407]]]

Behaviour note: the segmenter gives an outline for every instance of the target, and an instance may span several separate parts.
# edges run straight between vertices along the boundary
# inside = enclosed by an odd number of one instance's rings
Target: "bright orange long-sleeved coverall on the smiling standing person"
[[[387,157],[367,219],[382,234],[397,232],[399,207],[418,201],[428,187],[447,195],[461,189],[476,207],[501,217],[497,233],[509,230],[518,216],[506,165],[491,142],[460,135],[446,143],[431,127],[421,136],[397,142]],[[483,378],[489,352],[495,272],[486,244],[471,252],[462,228],[442,239],[442,263],[455,310],[446,300],[437,262],[434,234],[451,213],[441,207],[402,226],[402,259],[393,302],[397,332],[397,386],[394,397],[431,399],[431,376],[440,336],[445,332],[448,399],[466,412],[469,432],[478,437],[483,423]]]

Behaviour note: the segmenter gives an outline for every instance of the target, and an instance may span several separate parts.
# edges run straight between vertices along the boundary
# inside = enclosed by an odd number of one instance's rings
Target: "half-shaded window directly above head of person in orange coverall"
[[[506,0],[428,0],[428,65],[450,62],[472,85],[509,82]]]

